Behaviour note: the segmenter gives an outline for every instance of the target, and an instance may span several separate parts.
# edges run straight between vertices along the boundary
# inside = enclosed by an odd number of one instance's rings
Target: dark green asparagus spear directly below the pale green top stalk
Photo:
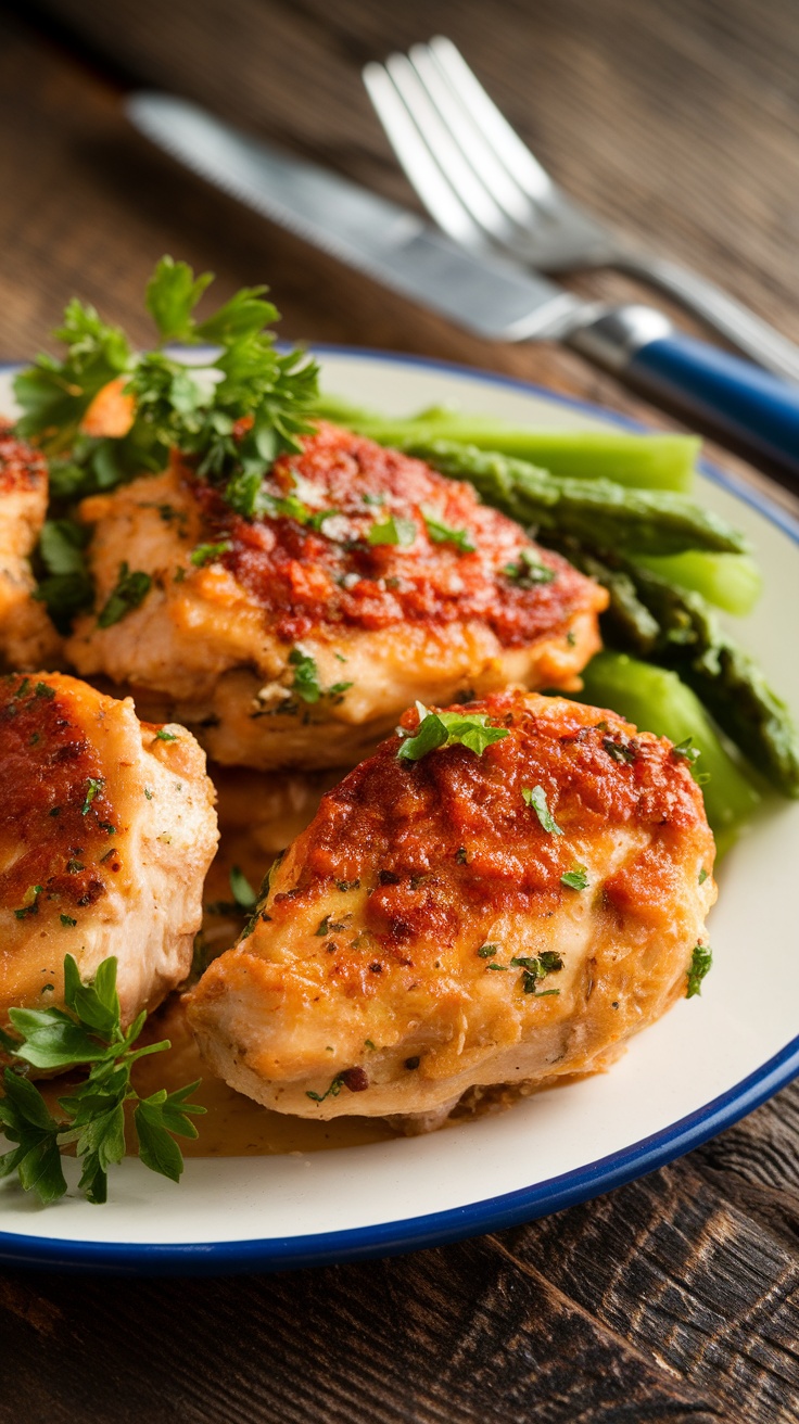
[[[412,454],[442,474],[469,480],[486,500],[520,524],[557,530],[591,545],[679,554],[706,548],[739,554],[742,534],[711,510],[671,490],[632,490],[610,480],[573,480],[526,460],[493,454],[450,440],[412,444]]]

